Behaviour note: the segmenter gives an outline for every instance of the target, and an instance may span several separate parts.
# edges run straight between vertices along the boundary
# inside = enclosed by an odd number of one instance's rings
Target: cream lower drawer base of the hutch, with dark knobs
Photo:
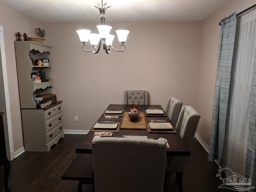
[[[21,113],[26,151],[49,151],[64,137],[61,102],[48,110],[21,109]]]

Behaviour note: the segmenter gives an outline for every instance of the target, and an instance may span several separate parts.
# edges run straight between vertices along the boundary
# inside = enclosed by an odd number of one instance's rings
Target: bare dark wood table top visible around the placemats
[[[108,106],[108,109],[123,109],[124,111],[130,110],[130,105],[116,105],[116,104],[110,104]],[[140,112],[144,112],[148,108],[163,108],[160,105],[139,105],[138,110]],[[164,111],[164,110],[163,110]],[[146,122],[150,122],[153,119],[157,120],[166,120],[169,121],[168,117],[146,117]],[[100,116],[98,119],[100,121],[109,121],[109,118],[105,118],[104,116]],[[114,119],[115,121],[122,122],[122,116]],[[110,130],[111,132],[111,130]],[[153,139],[158,138],[166,138],[168,141],[168,144],[170,145],[170,148],[166,148],[166,155],[167,156],[190,156],[190,150],[188,150],[186,144],[180,137],[178,133],[148,133],[147,130],[134,130],[134,129],[120,129],[119,132],[114,133],[112,136],[123,136],[123,135],[143,135],[148,136]],[[89,132],[86,135],[86,139],[84,140],[84,143],[80,144],[76,148],[76,153],[88,153],[92,154],[92,138],[94,137],[94,132]]]

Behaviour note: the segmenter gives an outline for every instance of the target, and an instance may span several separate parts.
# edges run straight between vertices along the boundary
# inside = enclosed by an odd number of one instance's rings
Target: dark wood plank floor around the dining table
[[[77,181],[61,180],[76,157],[75,148],[85,135],[65,135],[49,152],[24,152],[10,162],[9,186],[12,192],[77,192]],[[184,192],[230,192],[219,189],[218,166],[208,162],[208,153],[194,138],[183,176]],[[0,192],[4,192],[4,169],[0,166]],[[83,186],[89,192],[92,186]],[[166,175],[164,192],[178,192],[175,174]]]

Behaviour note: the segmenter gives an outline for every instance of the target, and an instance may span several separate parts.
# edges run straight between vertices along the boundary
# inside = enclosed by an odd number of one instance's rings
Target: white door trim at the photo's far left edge
[[[1,51],[1,61],[2,61],[2,71],[3,71],[3,81],[4,81],[4,98],[6,106],[6,118],[7,118],[7,128],[8,128],[8,140],[10,147],[10,160],[14,159],[13,156],[13,138],[12,138],[12,119],[11,119],[11,108],[10,108],[10,97],[8,89],[8,80],[7,80],[7,68],[6,68],[6,58],[5,58],[5,49],[4,49],[4,27],[0,25],[0,51]]]

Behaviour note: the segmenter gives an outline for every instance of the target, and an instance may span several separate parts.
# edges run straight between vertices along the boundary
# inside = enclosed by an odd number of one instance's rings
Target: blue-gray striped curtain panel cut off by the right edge
[[[252,92],[246,155],[246,178],[251,178],[252,186],[256,186],[256,48],[254,52],[252,74]]]

